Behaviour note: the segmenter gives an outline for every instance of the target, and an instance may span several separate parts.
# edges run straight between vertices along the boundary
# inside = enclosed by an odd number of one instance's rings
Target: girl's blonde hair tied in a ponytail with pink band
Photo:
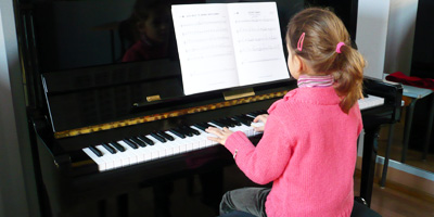
[[[298,50],[302,34],[305,38],[303,49]],[[340,53],[336,52],[339,42],[345,43]],[[347,29],[333,12],[309,8],[297,13],[288,24],[286,43],[289,52],[303,58],[315,73],[333,75],[343,112],[348,113],[362,98],[363,56],[352,48]]]

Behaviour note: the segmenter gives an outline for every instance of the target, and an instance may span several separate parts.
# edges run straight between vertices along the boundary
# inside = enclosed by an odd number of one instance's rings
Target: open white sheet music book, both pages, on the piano
[[[184,94],[289,78],[276,2],[173,5]]]

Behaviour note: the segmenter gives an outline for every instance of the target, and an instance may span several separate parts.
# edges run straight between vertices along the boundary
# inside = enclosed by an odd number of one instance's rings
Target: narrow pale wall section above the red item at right
[[[391,0],[385,73],[399,71],[410,75],[418,2],[419,0]]]

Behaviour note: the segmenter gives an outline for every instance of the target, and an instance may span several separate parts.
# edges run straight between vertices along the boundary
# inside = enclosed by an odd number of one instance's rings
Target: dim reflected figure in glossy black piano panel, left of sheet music
[[[119,27],[123,42],[132,42],[122,61],[146,61],[168,55],[173,29],[168,1],[138,0],[129,20]]]

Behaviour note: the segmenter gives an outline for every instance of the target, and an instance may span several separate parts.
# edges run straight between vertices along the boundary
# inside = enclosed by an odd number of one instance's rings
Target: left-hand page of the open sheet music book
[[[226,4],[173,5],[184,94],[239,86]]]

